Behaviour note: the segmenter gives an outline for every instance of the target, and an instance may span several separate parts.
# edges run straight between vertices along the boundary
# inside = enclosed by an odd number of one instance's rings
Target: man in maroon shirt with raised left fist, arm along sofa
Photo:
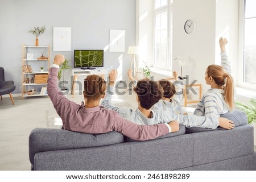
[[[84,81],[85,105],[69,101],[57,88],[59,65],[64,63],[63,55],[56,55],[49,69],[47,93],[57,114],[63,121],[63,129],[88,134],[118,131],[134,140],[148,140],[179,130],[176,121],[159,125],[137,125],[120,117],[115,111],[100,106],[106,92],[106,82],[100,76],[90,75]],[[116,72],[110,77],[116,78]],[[113,80],[113,79],[111,79]]]

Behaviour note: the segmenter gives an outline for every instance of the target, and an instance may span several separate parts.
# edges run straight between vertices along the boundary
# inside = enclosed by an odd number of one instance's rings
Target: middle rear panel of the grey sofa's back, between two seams
[[[133,171],[170,171],[192,166],[193,163],[191,134],[127,143],[130,145],[130,166]]]

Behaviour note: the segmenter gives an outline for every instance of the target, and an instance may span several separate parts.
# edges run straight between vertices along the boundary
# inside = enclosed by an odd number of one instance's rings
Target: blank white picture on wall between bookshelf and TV
[[[71,27],[53,27],[53,51],[71,51]]]

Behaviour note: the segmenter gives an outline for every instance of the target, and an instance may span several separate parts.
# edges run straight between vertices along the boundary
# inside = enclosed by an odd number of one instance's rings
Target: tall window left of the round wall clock
[[[171,69],[172,65],[172,1],[154,1],[154,64]]]

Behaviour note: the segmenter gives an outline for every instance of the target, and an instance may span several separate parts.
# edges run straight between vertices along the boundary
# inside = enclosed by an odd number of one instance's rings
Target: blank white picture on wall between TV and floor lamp
[[[109,31],[109,52],[125,52],[125,30]]]

